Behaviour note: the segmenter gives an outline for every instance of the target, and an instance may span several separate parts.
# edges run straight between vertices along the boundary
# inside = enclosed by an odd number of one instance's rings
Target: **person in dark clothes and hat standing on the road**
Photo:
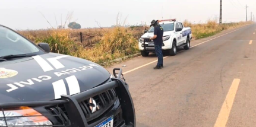
[[[154,41],[154,49],[156,50],[156,55],[158,57],[158,62],[154,69],[161,69],[163,68],[163,28],[159,25],[158,20],[151,21],[150,27],[151,26],[154,27],[154,36],[150,37],[150,39]]]

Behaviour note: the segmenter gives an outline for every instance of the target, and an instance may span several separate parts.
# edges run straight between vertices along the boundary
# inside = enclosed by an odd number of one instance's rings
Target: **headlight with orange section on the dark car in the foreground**
[[[5,119],[7,122],[5,122]],[[17,116],[17,117],[15,117]],[[24,117],[23,117],[24,116]],[[42,116],[41,113],[37,112],[30,107],[18,107],[12,109],[6,109],[3,112],[0,112],[0,126],[52,126],[52,122],[48,120],[45,116]]]

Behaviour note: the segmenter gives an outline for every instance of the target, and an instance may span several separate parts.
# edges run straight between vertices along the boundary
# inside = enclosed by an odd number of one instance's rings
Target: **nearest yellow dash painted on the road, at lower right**
[[[220,110],[219,116],[216,120],[214,127],[225,127],[227,120],[229,119],[230,110],[233,106],[233,101],[235,100],[236,91],[238,90],[240,79],[234,79],[232,85],[229,88],[226,99],[222,104],[222,109]]]

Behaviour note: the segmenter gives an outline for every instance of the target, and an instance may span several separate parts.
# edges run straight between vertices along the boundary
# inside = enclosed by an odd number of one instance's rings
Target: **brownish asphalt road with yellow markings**
[[[107,69],[123,68],[137,126],[256,126],[254,33],[256,24],[194,40],[159,70],[154,53]]]

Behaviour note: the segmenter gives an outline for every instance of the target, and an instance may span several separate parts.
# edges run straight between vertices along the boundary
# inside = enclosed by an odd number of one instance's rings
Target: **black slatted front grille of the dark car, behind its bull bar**
[[[113,103],[118,99],[118,97],[116,96],[115,89],[111,89],[101,94],[98,94],[97,96],[91,97],[91,99],[93,99],[96,102],[97,106],[99,107],[95,112],[93,112],[90,108],[91,106],[90,99],[86,99],[81,102],[78,102],[80,104],[81,109],[83,110],[84,116],[86,117],[86,120],[89,125],[94,121],[101,119],[100,116],[106,115],[106,113],[108,113],[108,111],[112,109]],[[69,116],[68,116],[67,110],[64,107],[64,104],[59,104],[58,106],[49,107],[48,110],[53,115],[61,114],[64,120],[62,121],[61,118],[56,117],[59,123],[61,124],[64,123],[65,125],[69,123]],[[119,116],[118,114],[115,115],[114,124],[118,125],[120,122],[122,122],[121,115]]]

